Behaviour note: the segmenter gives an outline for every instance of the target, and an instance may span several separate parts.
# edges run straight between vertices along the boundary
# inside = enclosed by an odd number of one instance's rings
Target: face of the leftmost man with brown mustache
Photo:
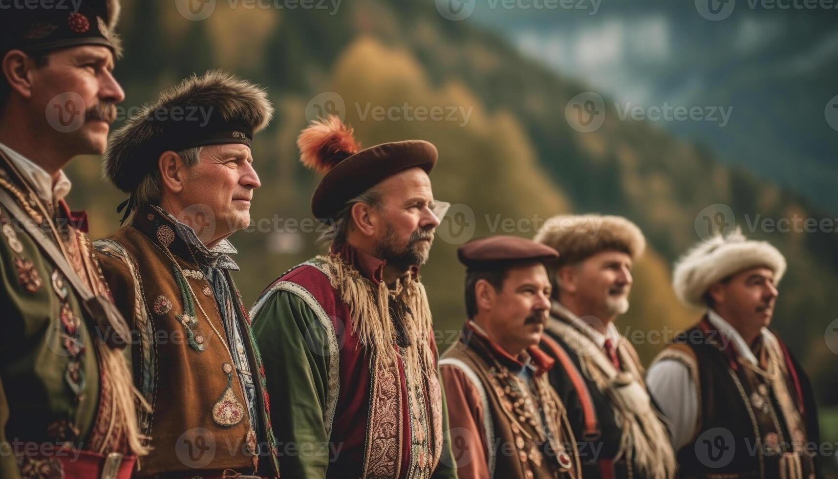
[[[85,45],[50,53],[32,70],[35,112],[71,156],[105,152],[116,103],[125,100],[113,66],[111,49]]]

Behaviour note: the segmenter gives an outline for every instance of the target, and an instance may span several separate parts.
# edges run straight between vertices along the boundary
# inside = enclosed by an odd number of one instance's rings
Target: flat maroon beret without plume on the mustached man
[[[526,238],[499,235],[467,242],[459,247],[457,257],[469,269],[488,269],[510,263],[544,263],[559,258],[559,253]]]

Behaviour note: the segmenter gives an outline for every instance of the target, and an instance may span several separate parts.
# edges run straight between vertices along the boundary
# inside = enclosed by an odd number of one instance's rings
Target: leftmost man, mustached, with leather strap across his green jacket
[[[125,320],[63,169],[101,154],[115,104],[116,0],[0,13],[0,476],[127,477],[144,452]]]

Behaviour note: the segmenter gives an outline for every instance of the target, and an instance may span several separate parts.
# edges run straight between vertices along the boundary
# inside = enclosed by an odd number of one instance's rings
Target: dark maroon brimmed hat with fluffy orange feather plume
[[[334,115],[313,122],[297,138],[300,161],[323,173],[312,195],[312,212],[320,221],[338,216],[346,202],[380,181],[410,168],[431,173],[437,147],[423,140],[382,143],[361,149],[352,128]]]

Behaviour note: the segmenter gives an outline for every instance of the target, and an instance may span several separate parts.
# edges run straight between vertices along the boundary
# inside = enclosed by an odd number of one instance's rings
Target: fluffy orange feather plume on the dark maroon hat
[[[297,137],[300,162],[318,173],[328,173],[335,165],[360,151],[353,129],[339,117],[331,115],[318,119]]]

